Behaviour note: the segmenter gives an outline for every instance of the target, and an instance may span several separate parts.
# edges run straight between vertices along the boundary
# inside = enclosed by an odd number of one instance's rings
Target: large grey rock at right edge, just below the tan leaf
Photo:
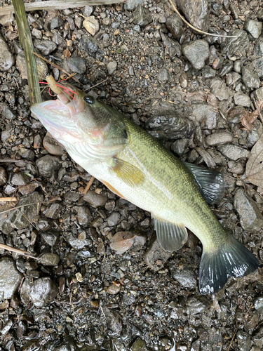
[[[255,201],[245,194],[244,190],[238,188],[234,196],[234,206],[238,212],[243,230],[257,232],[263,225],[263,216]]]

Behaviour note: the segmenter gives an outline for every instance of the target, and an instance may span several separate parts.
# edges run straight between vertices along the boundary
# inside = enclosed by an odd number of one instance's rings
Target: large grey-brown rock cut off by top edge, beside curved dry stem
[[[208,31],[211,0],[177,0],[177,7],[194,27]]]

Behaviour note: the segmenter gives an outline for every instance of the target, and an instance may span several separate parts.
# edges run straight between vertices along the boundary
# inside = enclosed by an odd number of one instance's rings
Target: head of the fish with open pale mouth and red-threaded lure
[[[127,143],[123,116],[71,84],[63,86],[67,93],[32,105],[32,113],[66,150],[81,144],[82,149],[87,145],[105,157],[116,154]]]

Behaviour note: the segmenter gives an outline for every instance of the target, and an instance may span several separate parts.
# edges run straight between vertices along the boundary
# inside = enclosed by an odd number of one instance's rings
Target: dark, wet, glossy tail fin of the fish
[[[259,267],[257,258],[229,234],[227,241],[213,253],[203,249],[199,267],[199,289],[203,295],[217,293],[229,277],[244,277]]]

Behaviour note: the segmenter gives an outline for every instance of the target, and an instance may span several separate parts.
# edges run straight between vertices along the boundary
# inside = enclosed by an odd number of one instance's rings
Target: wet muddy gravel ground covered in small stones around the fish
[[[245,180],[263,133],[255,105],[263,100],[262,4],[188,3],[178,0],[177,7],[193,25],[236,38],[190,30],[166,0],[32,11],[28,21],[36,51],[76,72],[81,85],[72,84],[180,159],[225,174],[224,198],[211,207],[262,263],[263,183]],[[1,249],[0,350],[221,351],[236,329],[230,350],[262,350],[261,269],[201,296],[202,248],[194,234],[180,251],[166,253],[150,213],[98,180],[83,196],[90,175],[29,111],[15,18],[0,23],[0,192],[17,199],[1,202],[1,211],[32,204],[1,214],[0,242],[38,258]],[[64,78],[49,64],[39,67],[41,79]],[[136,236],[121,254],[110,246],[116,232]]]

